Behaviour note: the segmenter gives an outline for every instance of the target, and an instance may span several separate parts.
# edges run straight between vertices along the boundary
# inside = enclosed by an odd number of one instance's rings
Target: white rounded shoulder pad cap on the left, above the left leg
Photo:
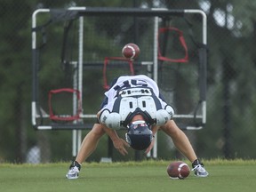
[[[100,114],[100,123],[106,124],[110,129],[118,130],[121,128],[121,116],[118,113],[109,113],[108,109],[105,109]]]

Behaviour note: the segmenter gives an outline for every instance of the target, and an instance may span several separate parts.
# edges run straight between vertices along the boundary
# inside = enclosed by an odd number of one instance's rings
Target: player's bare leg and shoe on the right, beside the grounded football
[[[166,124],[162,125],[161,130],[163,130],[167,135],[172,138],[172,141],[178,150],[188,158],[192,163],[193,170],[196,176],[206,177],[208,172],[204,169],[204,164],[202,164],[196,156],[194,148],[191,146],[187,135],[180,130],[180,128],[175,124],[173,120],[169,120]]]

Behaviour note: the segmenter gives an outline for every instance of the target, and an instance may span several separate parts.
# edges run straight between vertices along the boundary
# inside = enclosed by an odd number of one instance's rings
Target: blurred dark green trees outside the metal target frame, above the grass
[[[196,132],[194,141],[196,152],[204,158],[256,157],[256,151],[252,150],[252,146],[256,144],[254,117],[256,114],[254,51],[256,2],[2,0],[0,2],[0,161],[25,162],[28,149],[38,143],[43,143],[44,147],[49,148],[47,154],[42,155],[44,162],[70,158],[71,132],[36,132],[30,123],[31,15],[37,8],[69,6],[203,9],[208,17],[209,44],[207,124],[204,130]],[[99,44],[100,49],[104,48]],[[95,75],[88,75],[88,79],[92,76]],[[107,137],[102,138],[99,149],[90,160],[99,160],[100,156],[107,156],[107,148],[104,145],[107,140]],[[161,142],[159,146],[164,145],[164,140]],[[175,153],[166,155],[164,151],[159,150],[159,156],[162,158],[175,156]],[[115,153],[115,158],[121,157]]]

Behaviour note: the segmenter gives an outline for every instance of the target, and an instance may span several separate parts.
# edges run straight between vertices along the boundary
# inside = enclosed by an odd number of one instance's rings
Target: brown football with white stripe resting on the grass
[[[188,167],[188,164],[182,161],[177,161],[172,162],[167,166],[167,173],[172,179],[184,180],[188,177],[190,169]]]

